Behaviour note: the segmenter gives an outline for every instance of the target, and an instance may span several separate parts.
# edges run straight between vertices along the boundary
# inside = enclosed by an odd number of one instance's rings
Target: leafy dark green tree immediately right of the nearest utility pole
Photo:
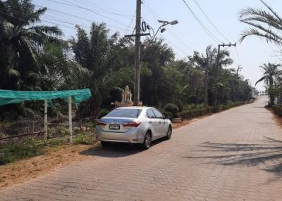
[[[174,61],[174,53],[163,39],[145,41],[143,45],[146,54],[142,60],[142,68],[147,73],[143,71],[141,75],[140,100],[145,105],[161,106],[173,99],[175,88],[167,73],[175,72],[172,68],[168,70],[168,66]]]

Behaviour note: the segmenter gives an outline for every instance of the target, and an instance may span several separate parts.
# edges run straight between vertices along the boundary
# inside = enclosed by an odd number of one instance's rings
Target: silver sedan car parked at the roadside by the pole
[[[116,108],[97,122],[96,136],[102,145],[136,143],[148,149],[158,138],[170,139],[171,120],[149,107]]]

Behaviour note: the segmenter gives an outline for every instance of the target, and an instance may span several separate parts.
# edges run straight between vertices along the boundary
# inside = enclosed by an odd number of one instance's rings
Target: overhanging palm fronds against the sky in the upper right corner
[[[252,27],[243,32],[240,41],[249,36],[256,36],[266,39],[267,42],[281,45],[282,36],[279,32],[282,30],[282,18],[264,1],[262,4],[266,6],[268,11],[245,8],[240,12],[240,21]]]

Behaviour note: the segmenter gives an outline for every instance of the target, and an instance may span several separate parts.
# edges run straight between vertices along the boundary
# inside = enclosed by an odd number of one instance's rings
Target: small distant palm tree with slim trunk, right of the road
[[[272,64],[272,63],[264,63],[264,65],[260,66],[264,71],[264,75],[257,80],[256,84],[264,81],[267,86],[269,86],[269,96],[270,96],[270,105],[274,105],[274,79],[281,75],[281,65],[280,64]]]

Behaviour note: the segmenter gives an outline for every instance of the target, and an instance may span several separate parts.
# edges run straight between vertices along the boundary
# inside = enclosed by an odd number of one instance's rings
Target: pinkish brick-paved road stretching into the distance
[[[146,151],[92,151],[0,190],[0,200],[282,200],[282,128],[265,102],[201,119]]]

